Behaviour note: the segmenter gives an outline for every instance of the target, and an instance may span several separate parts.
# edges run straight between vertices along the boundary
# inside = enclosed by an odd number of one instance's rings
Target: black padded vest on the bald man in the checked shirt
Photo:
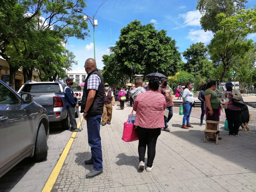
[[[84,82],[84,93],[81,101],[81,113],[84,112],[86,100],[88,97],[89,90],[87,89],[88,79],[92,74],[96,74],[100,77],[100,85],[98,90],[96,91],[95,97],[93,99],[92,105],[89,108],[88,114],[90,115],[101,115],[103,113],[103,106],[104,106],[104,82],[102,76],[100,75],[97,68],[93,69],[85,79]]]

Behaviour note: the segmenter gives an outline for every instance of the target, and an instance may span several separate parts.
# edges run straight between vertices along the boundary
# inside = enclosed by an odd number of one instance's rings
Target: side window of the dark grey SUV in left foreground
[[[18,100],[15,94],[0,84],[0,105],[17,104]]]

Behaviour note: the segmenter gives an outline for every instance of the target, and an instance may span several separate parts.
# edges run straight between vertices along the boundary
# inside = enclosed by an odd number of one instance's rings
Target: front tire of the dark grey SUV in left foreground
[[[44,130],[44,124],[40,124],[38,127],[38,133],[36,136],[36,146],[34,151],[33,159],[35,161],[42,161],[47,157],[47,140]]]

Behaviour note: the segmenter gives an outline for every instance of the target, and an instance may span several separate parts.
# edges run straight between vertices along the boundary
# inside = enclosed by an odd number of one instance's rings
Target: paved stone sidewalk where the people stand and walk
[[[194,128],[181,129],[183,116],[175,111],[169,122],[171,132],[162,131],[157,140],[154,168],[146,172],[137,169],[138,141],[121,140],[131,111],[127,103],[124,110],[114,106],[111,125],[101,126],[104,172],[92,179],[85,178],[92,165],[84,164],[91,153],[83,121],[84,130],[76,134],[52,191],[256,191],[255,132],[239,132],[236,137],[221,130],[218,145],[204,143],[200,121],[191,118]]]

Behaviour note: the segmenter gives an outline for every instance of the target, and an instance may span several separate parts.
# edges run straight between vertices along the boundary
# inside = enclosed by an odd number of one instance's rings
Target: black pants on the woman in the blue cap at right
[[[228,121],[229,134],[238,134],[240,110],[233,111],[225,109],[225,113]]]

